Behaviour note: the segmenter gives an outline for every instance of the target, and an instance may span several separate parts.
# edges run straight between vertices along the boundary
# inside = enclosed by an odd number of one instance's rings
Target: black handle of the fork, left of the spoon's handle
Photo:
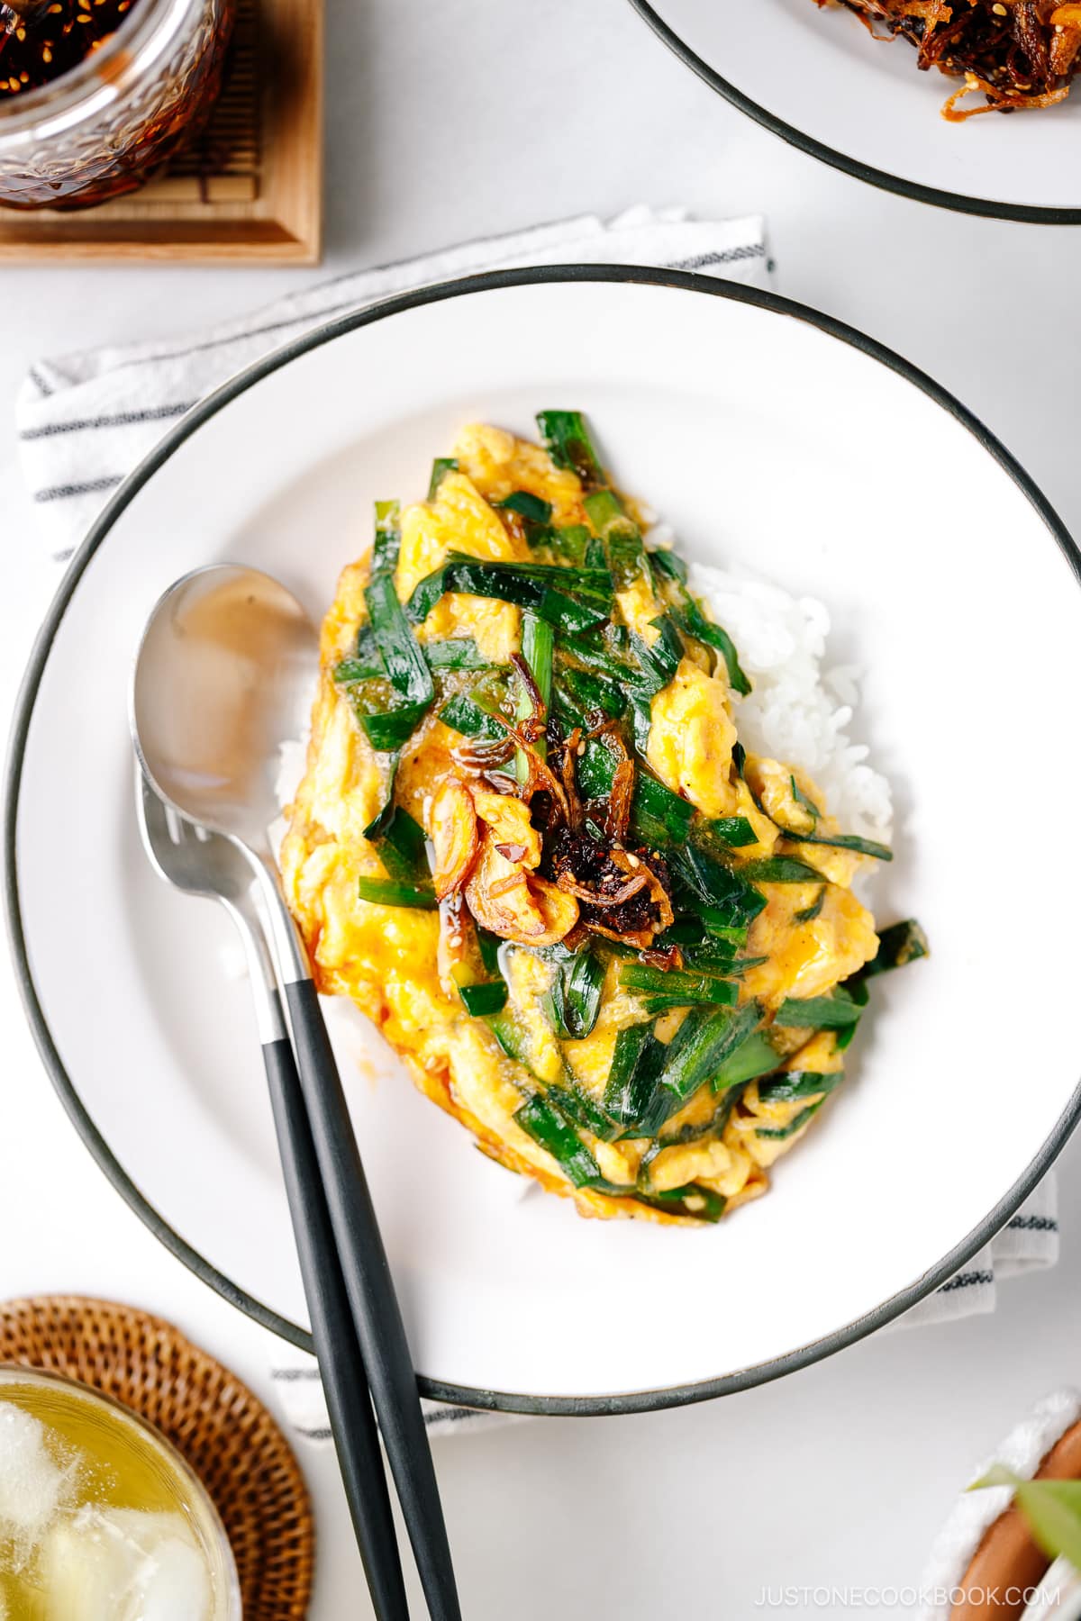
[[[263,1062],[311,1316],[311,1337],[316,1342],[337,1461],[371,1602],[378,1621],[408,1621],[379,1433],[288,1039],[266,1042]]]

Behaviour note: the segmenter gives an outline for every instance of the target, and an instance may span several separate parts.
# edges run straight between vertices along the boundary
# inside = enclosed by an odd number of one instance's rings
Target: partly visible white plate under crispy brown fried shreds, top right
[[[1081,83],[1037,112],[940,117],[959,79],[815,0],[630,0],[733,105],[836,169],[966,214],[1081,224]],[[979,105],[971,97],[966,105]]]

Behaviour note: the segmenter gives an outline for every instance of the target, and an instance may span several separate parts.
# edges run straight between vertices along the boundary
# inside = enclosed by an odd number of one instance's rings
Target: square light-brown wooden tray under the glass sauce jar
[[[100,207],[0,207],[0,264],[318,264],[321,235],[323,0],[237,0],[225,84],[203,136],[141,191]]]

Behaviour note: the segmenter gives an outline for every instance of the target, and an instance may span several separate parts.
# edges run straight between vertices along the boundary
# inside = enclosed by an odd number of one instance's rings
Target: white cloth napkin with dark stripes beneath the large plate
[[[773,272],[757,216],[703,220],[684,209],[639,206],[611,220],[583,216],[358,271],[186,337],[39,360],[19,391],[16,418],[23,473],[45,545],[58,561],[70,558],[112,491],[173,421],[219,383],[310,327],[475,271],[572,263],[702,271],[758,287],[771,285]],[[1003,1232],[901,1324],[993,1311],[998,1279],[1058,1258],[1055,1209],[1055,1183],[1047,1177]],[[314,1360],[282,1345],[272,1376],[295,1431],[313,1443],[329,1441]],[[425,1409],[431,1431],[502,1417],[438,1402]]]

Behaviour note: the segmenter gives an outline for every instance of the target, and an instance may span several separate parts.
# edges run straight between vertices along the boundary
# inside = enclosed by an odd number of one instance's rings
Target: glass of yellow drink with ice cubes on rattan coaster
[[[0,1621],[240,1621],[204,1486],[143,1418],[0,1367]]]

